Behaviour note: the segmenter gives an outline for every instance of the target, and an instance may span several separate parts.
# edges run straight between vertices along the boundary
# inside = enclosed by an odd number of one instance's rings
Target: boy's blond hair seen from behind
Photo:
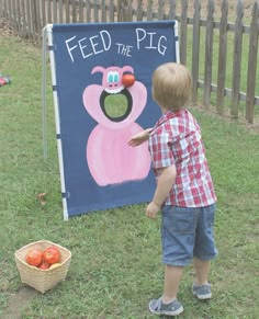
[[[168,62],[153,73],[153,99],[164,109],[185,107],[192,91],[192,76],[180,64]]]

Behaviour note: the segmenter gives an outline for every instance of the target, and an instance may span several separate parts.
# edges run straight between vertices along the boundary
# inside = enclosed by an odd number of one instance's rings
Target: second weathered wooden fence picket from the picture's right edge
[[[234,56],[233,56],[233,80],[232,80],[232,103],[230,114],[238,117],[239,89],[240,89],[240,69],[241,69],[241,47],[243,47],[243,1],[238,0],[236,10]]]

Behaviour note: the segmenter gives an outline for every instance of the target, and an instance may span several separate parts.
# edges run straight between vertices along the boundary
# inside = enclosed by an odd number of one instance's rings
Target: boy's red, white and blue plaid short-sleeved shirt
[[[204,207],[216,202],[201,129],[188,110],[164,113],[150,134],[149,151],[156,178],[161,168],[177,168],[165,205]]]

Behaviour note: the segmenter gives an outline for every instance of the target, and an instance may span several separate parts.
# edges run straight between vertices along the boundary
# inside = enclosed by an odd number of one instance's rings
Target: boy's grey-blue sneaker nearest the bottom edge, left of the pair
[[[174,299],[170,304],[164,304],[162,298],[153,299],[149,303],[149,310],[156,315],[164,315],[164,316],[177,316],[183,311],[182,305]]]

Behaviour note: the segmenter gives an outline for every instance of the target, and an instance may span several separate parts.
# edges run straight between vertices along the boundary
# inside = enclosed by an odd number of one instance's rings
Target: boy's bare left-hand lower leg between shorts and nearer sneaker
[[[162,301],[168,304],[177,298],[183,266],[166,265]]]

